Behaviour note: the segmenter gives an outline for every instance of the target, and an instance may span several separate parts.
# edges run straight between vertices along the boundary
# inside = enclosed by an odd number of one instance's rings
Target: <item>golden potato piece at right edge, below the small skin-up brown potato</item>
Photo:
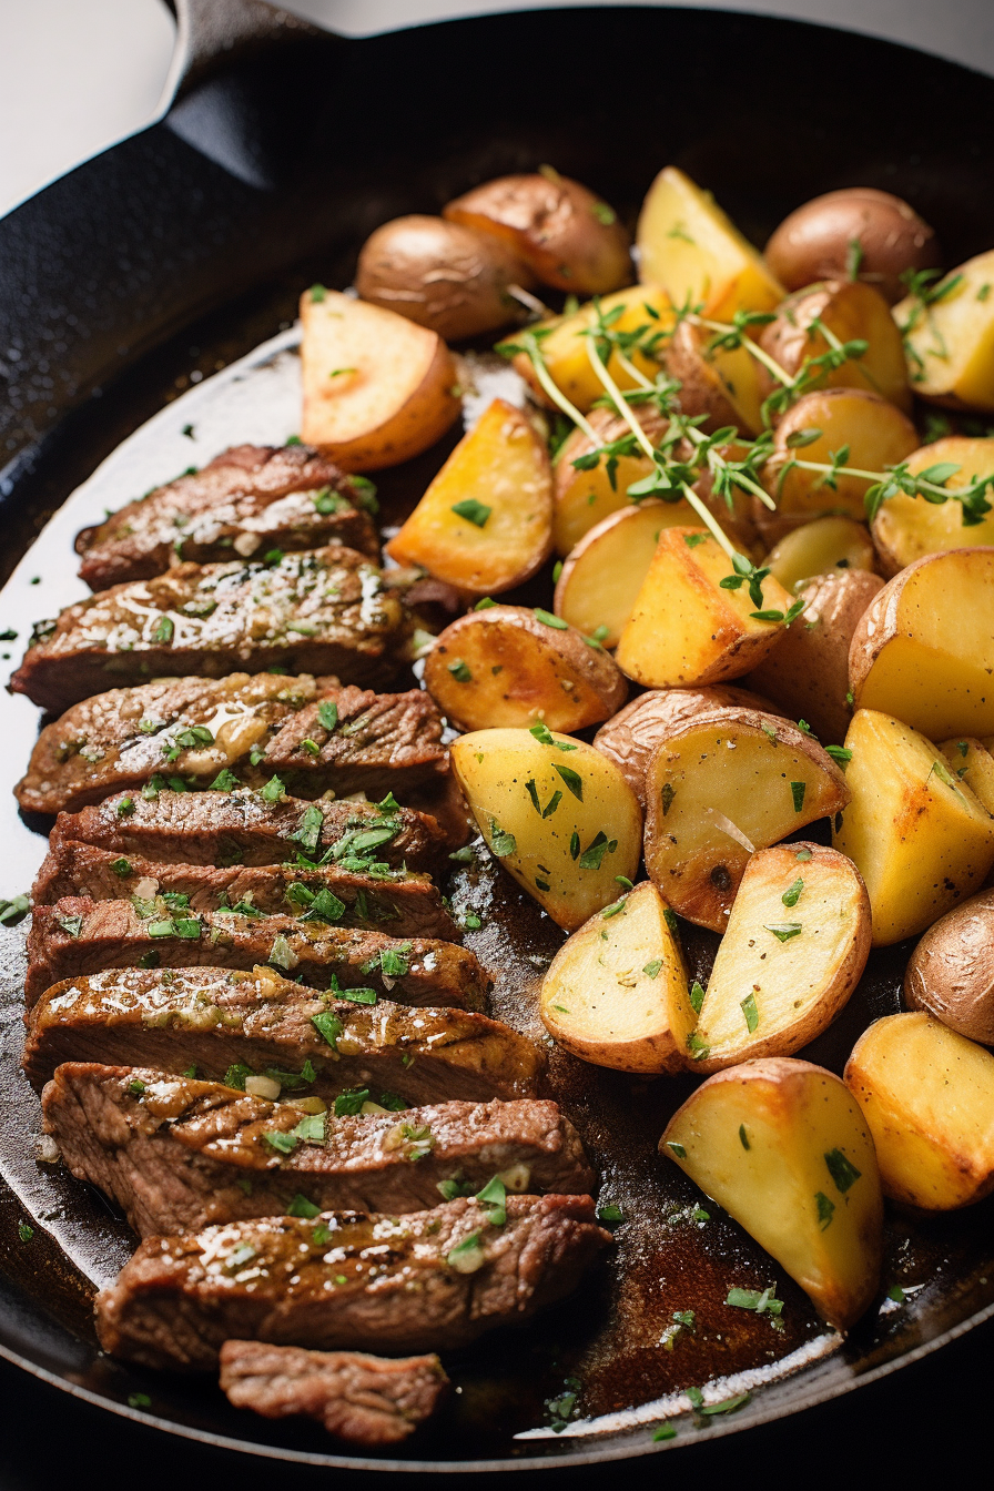
[[[845,1081],[873,1135],[884,1194],[922,1211],[994,1190],[994,1056],[928,1014],[885,1015]]]

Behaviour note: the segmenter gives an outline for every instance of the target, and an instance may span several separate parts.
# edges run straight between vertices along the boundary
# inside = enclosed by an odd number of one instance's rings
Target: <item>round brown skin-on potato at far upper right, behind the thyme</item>
[[[796,207],[766,245],[766,262],[787,289],[803,289],[848,273],[849,245],[858,242],[858,279],[894,306],[906,292],[905,270],[942,262],[934,230],[900,197],[873,186],[846,186]]]

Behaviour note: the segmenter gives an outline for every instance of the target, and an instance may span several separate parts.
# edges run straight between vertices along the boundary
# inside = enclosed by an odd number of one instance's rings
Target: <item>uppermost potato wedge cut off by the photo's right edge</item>
[[[894,306],[908,374],[921,398],[948,409],[994,410],[994,249],[978,253]]]

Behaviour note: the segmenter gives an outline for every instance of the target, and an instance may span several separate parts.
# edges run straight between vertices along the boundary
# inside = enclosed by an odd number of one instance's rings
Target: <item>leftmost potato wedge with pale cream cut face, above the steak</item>
[[[300,312],[306,444],[346,471],[379,471],[456,422],[456,368],[438,332],[317,285]]]

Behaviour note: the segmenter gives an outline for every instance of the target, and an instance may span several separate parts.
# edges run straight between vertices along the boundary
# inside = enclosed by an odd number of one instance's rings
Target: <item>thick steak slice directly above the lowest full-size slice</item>
[[[361,1099],[338,1102],[347,1114],[303,1112],[300,1099],[66,1062],[42,1108],[76,1179],[118,1202],[142,1238],[286,1212],[420,1211],[440,1187],[471,1194],[495,1175],[514,1191],[583,1194],[595,1182],[556,1103],[450,1102],[398,1117],[362,1115]]]

